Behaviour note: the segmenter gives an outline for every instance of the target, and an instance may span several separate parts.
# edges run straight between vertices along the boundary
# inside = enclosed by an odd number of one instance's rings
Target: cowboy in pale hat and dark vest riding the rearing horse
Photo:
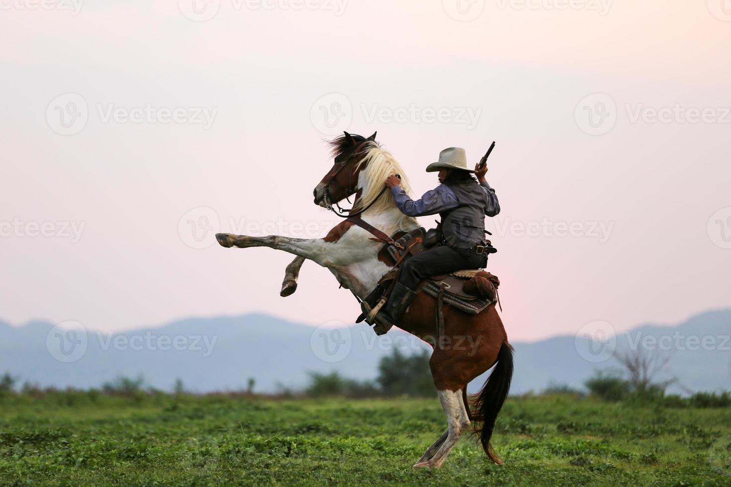
[[[390,188],[396,206],[409,216],[436,215],[442,221],[442,243],[404,262],[387,304],[376,314],[376,327],[387,331],[406,312],[417,295],[420,280],[462,269],[482,269],[487,265],[485,253],[485,215],[495,216],[500,204],[495,190],[485,181],[487,164],[474,170],[467,167],[466,152],[449,147],[439,153],[439,161],[429,164],[426,172],[439,171],[439,186],[427,191],[417,201],[409,198],[401,180],[390,176]],[[472,176],[477,175],[477,179]],[[479,183],[479,184],[478,184]],[[363,310],[366,312],[366,309]]]

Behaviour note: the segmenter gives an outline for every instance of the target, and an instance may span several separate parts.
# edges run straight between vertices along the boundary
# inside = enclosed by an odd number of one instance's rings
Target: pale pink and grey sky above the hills
[[[727,0],[0,9],[1,320],[351,323],[327,269],[281,298],[292,256],[213,238],[324,236],[311,194],[343,130],[378,131],[415,196],[440,150],[476,162],[496,140],[488,270],[511,340],[731,305]]]

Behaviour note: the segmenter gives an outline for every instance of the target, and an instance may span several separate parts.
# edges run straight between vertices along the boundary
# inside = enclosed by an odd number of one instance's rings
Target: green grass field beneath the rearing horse
[[[461,440],[412,469],[446,421],[435,399],[0,399],[3,485],[731,485],[731,409],[510,398],[491,464]]]

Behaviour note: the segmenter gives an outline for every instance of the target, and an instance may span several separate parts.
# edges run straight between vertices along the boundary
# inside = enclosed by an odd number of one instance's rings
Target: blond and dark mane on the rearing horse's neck
[[[357,163],[356,169],[360,169],[363,165],[366,168],[363,169],[363,177],[368,182],[367,188],[360,195],[357,204],[353,208],[354,211],[358,211],[362,208],[371,204],[374,199],[378,198],[378,201],[374,203],[372,207],[368,209],[368,212],[382,213],[395,207],[395,201],[393,200],[393,194],[390,191],[385,191],[380,198],[379,193],[385,187],[386,179],[392,175],[401,176],[401,188],[406,193],[411,193],[411,186],[409,185],[409,178],[404,173],[404,168],[396,160],[390,151],[385,150],[378,142],[368,140],[360,135],[351,136],[356,146],[365,145],[361,148],[360,152],[364,153],[363,157]],[[351,147],[347,142],[345,136],[338,137],[330,142],[332,147],[333,156],[338,156],[343,153],[347,148]],[[405,215],[404,215],[405,216]],[[416,220],[411,217],[406,217],[416,223]],[[401,226],[404,226],[406,221],[401,222]]]

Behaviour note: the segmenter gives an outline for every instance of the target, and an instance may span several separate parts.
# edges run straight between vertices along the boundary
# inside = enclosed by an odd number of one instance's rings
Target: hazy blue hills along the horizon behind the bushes
[[[720,310],[694,316],[678,326],[638,326],[619,334],[616,343],[617,350],[626,350],[638,339],[647,340],[644,337],[670,337],[664,342],[673,348],[666,377],[677,377],[686,390],[720,391],[731,388],[730,334],[731,310]],[[379,359],[393,346],[407,353],[427,348],[398,330],[376,337],[363,323],[346,329],[313,329],[254,314],[191,318],[114,334],[88,330],[86,347],[82,337],[83,333],[67,334],[46,322],[15,327],[0,321],[0,372],[11,372],[22,382],[61,388],[99,387],[118,375],[142,374],[149,386],[170,390],[180,377],[186,388],[201,392],[243,388],[254,377],[256,391],[270,392],[278,385],[303,386],[308,371],[338,370],[348,377],[373,379]],[[698,337],[698,347],[689,337]],[[706,339],[705,347],[700,342],[704,337],[712,337]],[[513,343],[511,392],[540,391],[552,382],[581,387],[595,369],[617,367],[613,359],[591,363],[582,358],[577,347],[589,345],[582,340],[588,341],[562,336]],[[711,340],[713,346],[709,347]],[[77,348],[72,347],[73,342],[78,342]],[[77,359],[64,362],[53,355],[64,361]],[[470,390],[483,381],[484,377],[475,380]],[[673,390],[683,388],[674,386]]]

